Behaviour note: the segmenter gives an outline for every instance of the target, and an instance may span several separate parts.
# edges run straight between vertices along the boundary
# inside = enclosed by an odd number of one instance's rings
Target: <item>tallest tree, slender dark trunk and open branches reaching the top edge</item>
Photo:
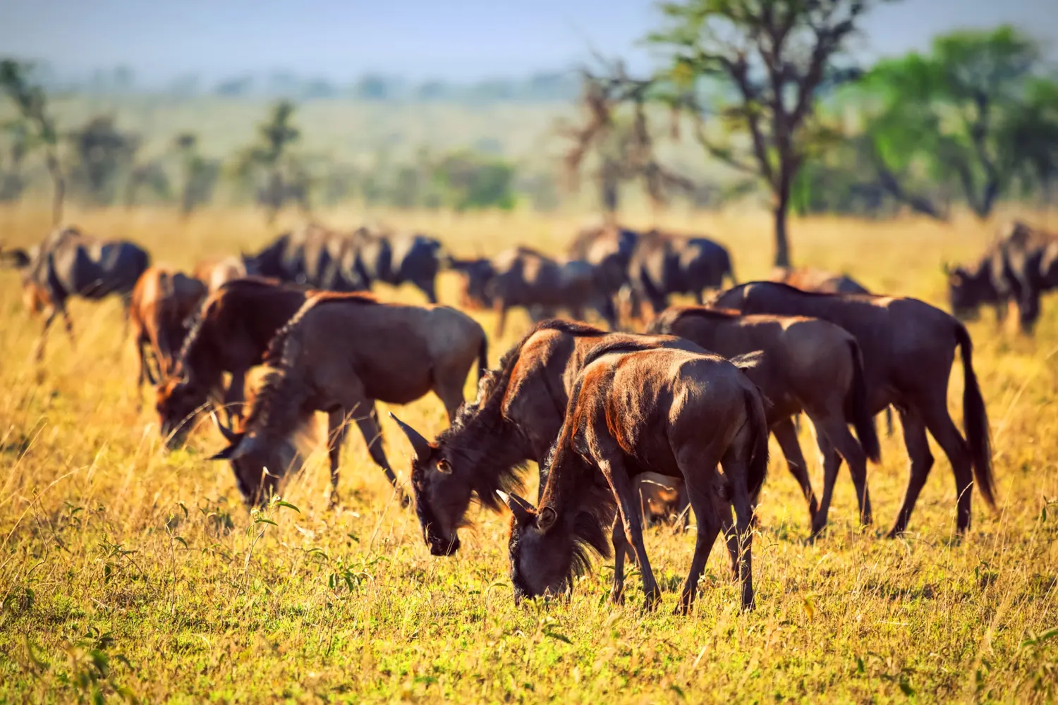
[[[650,41],[669,57],[673,100],[696,122],[707,152],[764,182],[774,215],[777,266],[789,266],[786,218],[811,144],[816,100],[856,76],[841,66],[861,16],[889,0],[681,0],[661,5]],[[717,91],[703,100],[703,85]],[[705,129],[716,115],[723,135]],[[715,132],[715,131],[714,131]]]

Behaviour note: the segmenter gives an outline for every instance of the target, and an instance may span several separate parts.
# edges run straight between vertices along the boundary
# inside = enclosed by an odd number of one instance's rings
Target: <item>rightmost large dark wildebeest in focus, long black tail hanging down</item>
[[[725,292],[716,305],[751,314],[822,318],[856,337],[863,353],[868,406],[874,413],[890,404],[896,407],[911,458],[908,490],[890,537],[907,528],[933,466],[927,429],[951,461],[959,498],[955,521],[959,532],[970,526],[970,485],[974,478],[985,501],[995,507],[988,414],[973,373],[973,344],[966,328],[954,317],[917,299],[815,294],[761,281]],[[963,358],[966,439],[948,413],[948,378],[955,348]]]

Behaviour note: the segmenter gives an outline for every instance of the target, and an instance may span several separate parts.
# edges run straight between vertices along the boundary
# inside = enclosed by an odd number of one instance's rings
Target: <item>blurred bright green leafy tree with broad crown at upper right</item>
[[[981,219],[1020,182],[1055,171],[1058,89],[1039,75],[1039,43],[1010,26],[937,37],[927,54],[880,61],[865,77],[865,133],[880,182],[934,218],[929,188],[960,193]]]

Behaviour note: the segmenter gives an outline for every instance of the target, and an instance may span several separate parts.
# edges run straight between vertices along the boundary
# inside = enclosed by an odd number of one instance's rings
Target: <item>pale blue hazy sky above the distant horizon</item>
[[[62,73],[124,63],[151,80],[272,69],[472,79],[568,68],[589,45],[644,67],[635,44],[657,21],[651,0],[0,0],[0,54]],[[1058,45],[1058,0],[904,0],[864,21],[863,50],[1001,22]]]

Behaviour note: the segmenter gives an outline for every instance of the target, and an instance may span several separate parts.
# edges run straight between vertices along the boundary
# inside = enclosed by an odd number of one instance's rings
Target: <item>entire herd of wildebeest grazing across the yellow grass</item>
[[[433,391],[450,422],[433,441],[394,416],[413,448],[412,494],[432,554],[459,550],[472,501],[493,511],[506,505],[515,599],[571,590],[592,552],[609,556],[613,545],[614,599],[623,599],[627,554],[653,607],[660,591],[642,522],[667,517],[686,526],[693,511],[697,538],[683,612],[720,533],[742,605],[753,605],[751,530],[769,434],[802,488],[811,538],[826,525],[842,462],[859,519],[871,523],[867,468],[880,454],[875,416],[890,408],[911,461],[890,537],[907,528],[933,465],[927,431],[955,477],[956,530],[970,525],[971,485],[995,507],[988,419],[961,319],[992,304],[1002,320],[1016,304],[1030,333],[1041,293],[1058,287],[1058,238],[1019,221],[978,263],[945,267],[954,315],[817,270],[737,283],[727,249],[709,239],[614,224],[583,228],[564,259],[514,247],[461,260],[422,235],[315,223],[191,274],[151,265],[131,242],[74,227],[0,256],[21,274],[26,307],[43,316],[38,359],[57,316],[73,341],[69,297],[121,297],[140,359],[138,384],[157,387],[166,447],[182,445],[198,418],[212,418],[227,442],[214,458],[231,463],[249,505],[270,501],[304,464],[298,434],[317,411],[328,418],[331,504],[339,502],[349,422],[395,497],[408,504],[383,452],[375,403],[403,405]],[[460,308],[498,314],[497,336],[510,309],[532,317],[532,329],[494,369],[481,326],[437,304],[443,270],[459,275]],[[376,281],[412,283],[430,303],[382,302],[366,293]],[[670,305],[672,294],[692,295],[697,304]],[[580,322],[588,310],[609,331]],[[568,318],[555,317],[561,312]],[[956,350],[965,434],[947,405]],[[248,395],[247,373],[260,365],[262,382]],[[464,382],[474,367],[477,397],[468,402]],[[815,428],[823,462],[818,498],[798,441],[800,414]],[[528,461],[540,468],[536,506],[515,494]]]

